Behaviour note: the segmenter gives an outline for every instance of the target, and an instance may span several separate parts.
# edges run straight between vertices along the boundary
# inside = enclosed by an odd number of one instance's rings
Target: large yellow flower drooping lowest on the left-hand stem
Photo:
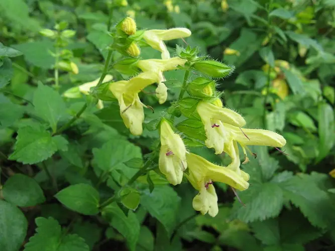
[[[145,105],[141,102],[138,93],[158,80],[157,73],[143,72],[130,80],[122,80],[109,85],[109,90],[119,101],[120,115],[125,126],[133,135],[141,135],[143,132],[143,107]]]

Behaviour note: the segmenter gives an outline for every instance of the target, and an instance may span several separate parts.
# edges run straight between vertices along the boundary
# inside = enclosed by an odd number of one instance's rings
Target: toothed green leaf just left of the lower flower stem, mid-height
[[[141,149],[122,139],[113,139],[105,144],[100,149],[94,148],[93,161],[103,171],[112,171],[115,169],[123,169],[124,164],[141,156]]]

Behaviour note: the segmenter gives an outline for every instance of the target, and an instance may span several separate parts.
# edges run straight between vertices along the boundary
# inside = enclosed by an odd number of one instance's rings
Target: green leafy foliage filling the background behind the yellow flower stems
[[[335,189],[328,173],[335,153],[335,2],[114,5],[0,1],[0,250],[334,250]],[[191,186],[169,186],[154,162],[152,171],[122,189],[121,203],[101,208],[155,151],[158,134],[150,128],[168,104],[143,94],[155,113],[147,111],[144,133],[134,137],[115,102],[99,110],[88,96],[67,99],[61,93],[100,76],[111,43],[107,26],[126,15],[135,15],[141,29],[189,28],[187,44],[236,67],[220,82],[225,105],[240,111],[250,128],[286,138],[284,154],[253,148],[257,159],[245,165],[251,186],[239,193],[245,206],[230,188],[216,184],[219,214],[199,215]],[[78,72],[63,67],[59,90],[51,87],[54,42],[39,34],[55,24],[76,31],[64,34],[64,46]],[[160,53],[144,48],[141,57]],[[119,58],[115,53],[112,60]],[[127,76],[113,67],[108,73]],[[183,72],[165,77],[173,101]],[[88,108],[63,132],[85,102]],[[211,162],[229,162],[205,147],[191,150]]]

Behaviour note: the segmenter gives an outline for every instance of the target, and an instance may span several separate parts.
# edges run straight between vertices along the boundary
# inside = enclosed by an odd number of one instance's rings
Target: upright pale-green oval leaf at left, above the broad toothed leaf
[[[57,122],[66,115],[66,106],[59,93],[40,83],[34,93],[33,104],[38,115],[49,122],[55,133]]]

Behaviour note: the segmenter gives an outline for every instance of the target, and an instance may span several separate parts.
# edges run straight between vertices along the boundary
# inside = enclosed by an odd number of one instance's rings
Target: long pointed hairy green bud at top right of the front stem
[[[223,78],[229,76],[235,69],[234,66],[229,66],[214,60],[201,60],[193,64],[194,69],[205,73],[214,78]]]

